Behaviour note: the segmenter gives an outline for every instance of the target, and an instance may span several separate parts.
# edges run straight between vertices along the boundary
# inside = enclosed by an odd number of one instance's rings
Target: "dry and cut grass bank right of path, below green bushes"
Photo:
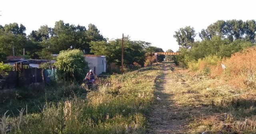
[[[176,87],[180,90],[176,90],[173,100],[190,114],[187,120],[191,134],[256,133],[255,53],[252,47],[215,65],[207,64],[206,58],[198,64],[196,73],[176,71],[177,81],[182,84]]]

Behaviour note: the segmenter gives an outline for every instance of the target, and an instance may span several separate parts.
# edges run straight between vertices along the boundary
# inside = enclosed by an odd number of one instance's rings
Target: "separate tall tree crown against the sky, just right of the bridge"
[[[194,37],[196,37],[194,28],[186,26],[185,28],[180,28],[178,31],[175,31],[173,36],[176,38],[179,46],[189,48],[194,42]]]

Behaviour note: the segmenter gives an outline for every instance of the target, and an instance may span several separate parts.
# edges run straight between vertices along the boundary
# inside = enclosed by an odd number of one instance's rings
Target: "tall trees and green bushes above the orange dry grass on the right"
[[[187,67],[188,62],[209,55],[230,57],[235,52],[254,46],[255,35],[255,20],[217,20],[198,33],[190,26],[180,28],[173,36],[180,46],[176,64]],[[195,41],[196,36],[201,40]]]

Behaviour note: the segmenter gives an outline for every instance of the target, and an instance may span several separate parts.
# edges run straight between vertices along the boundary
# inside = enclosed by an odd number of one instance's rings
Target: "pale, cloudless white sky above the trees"
[[[1,0],[0,25],[23,24],[30,34],[59,20],[87,29],[91,23],[110,40],[124,34],[176,52],[173,35],[180,28],[198,33],[217,20],[256,20],[255,5],[255,0]]]

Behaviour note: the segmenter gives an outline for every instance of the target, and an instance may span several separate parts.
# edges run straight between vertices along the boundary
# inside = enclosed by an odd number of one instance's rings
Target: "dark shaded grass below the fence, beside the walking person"
[[[9,110],[10,116],[18,116],[17,109],[28,107],[28,113],[40,112],[40,108],[48,102],[58,102],[64,98],[86,96],[86,90],[78,84],[58,82],[54,86],[42,88],[39,86],[21,87],[18,90],[3,92],[0,95],[0,115]]]

